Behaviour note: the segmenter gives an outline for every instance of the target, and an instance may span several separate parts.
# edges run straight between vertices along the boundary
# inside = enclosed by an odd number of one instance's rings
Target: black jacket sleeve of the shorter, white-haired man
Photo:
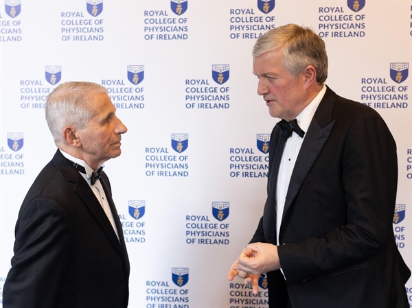
[[[19,213],[15,237],[3,308],[56,308],[68,262],[64,211],[53,200],[34,198]]]

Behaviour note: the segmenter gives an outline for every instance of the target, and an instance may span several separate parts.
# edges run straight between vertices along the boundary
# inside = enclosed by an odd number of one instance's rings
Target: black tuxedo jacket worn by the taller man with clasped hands
[[[276,182],[284,139],[271,134],[268,198],[251,242],[276,244]],[[279,179],[282,180],[282,179]],[[290,179],[269,305],[409,307],[411,274],[396,247],[396,143],[378,112],[327,89]]]

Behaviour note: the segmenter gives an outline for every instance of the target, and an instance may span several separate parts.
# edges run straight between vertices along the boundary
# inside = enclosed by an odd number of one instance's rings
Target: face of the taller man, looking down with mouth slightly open
[[[282,51],[268,51],[253,59],[253,73],[258,77],[262,95],[272,117],[291,121],[306,106],[305,76],[293,77],[282,63]]]

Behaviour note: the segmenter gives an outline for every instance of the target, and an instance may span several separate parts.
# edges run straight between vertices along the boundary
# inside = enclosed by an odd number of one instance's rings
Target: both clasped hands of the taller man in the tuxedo
[[[246,285],[252,284],[253,294],[258,294],[260,274],[279,270],[279,268],[277,246],[267,243],[252,243],[246,246],[238,259],[233,262],[227,279],[232,281],[236,276],[239,276],[244,279]]]

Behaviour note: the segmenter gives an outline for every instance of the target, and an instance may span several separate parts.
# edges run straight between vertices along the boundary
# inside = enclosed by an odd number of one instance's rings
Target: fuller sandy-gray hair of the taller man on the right
[[[316,69],[316,80],[323,84],[328,78],[328,55],[325,42],[310,28],[293,23],[269,30],[256,40],[253,58],[268,51],[282,50],[286,69],[297,77],[308,65]]]

